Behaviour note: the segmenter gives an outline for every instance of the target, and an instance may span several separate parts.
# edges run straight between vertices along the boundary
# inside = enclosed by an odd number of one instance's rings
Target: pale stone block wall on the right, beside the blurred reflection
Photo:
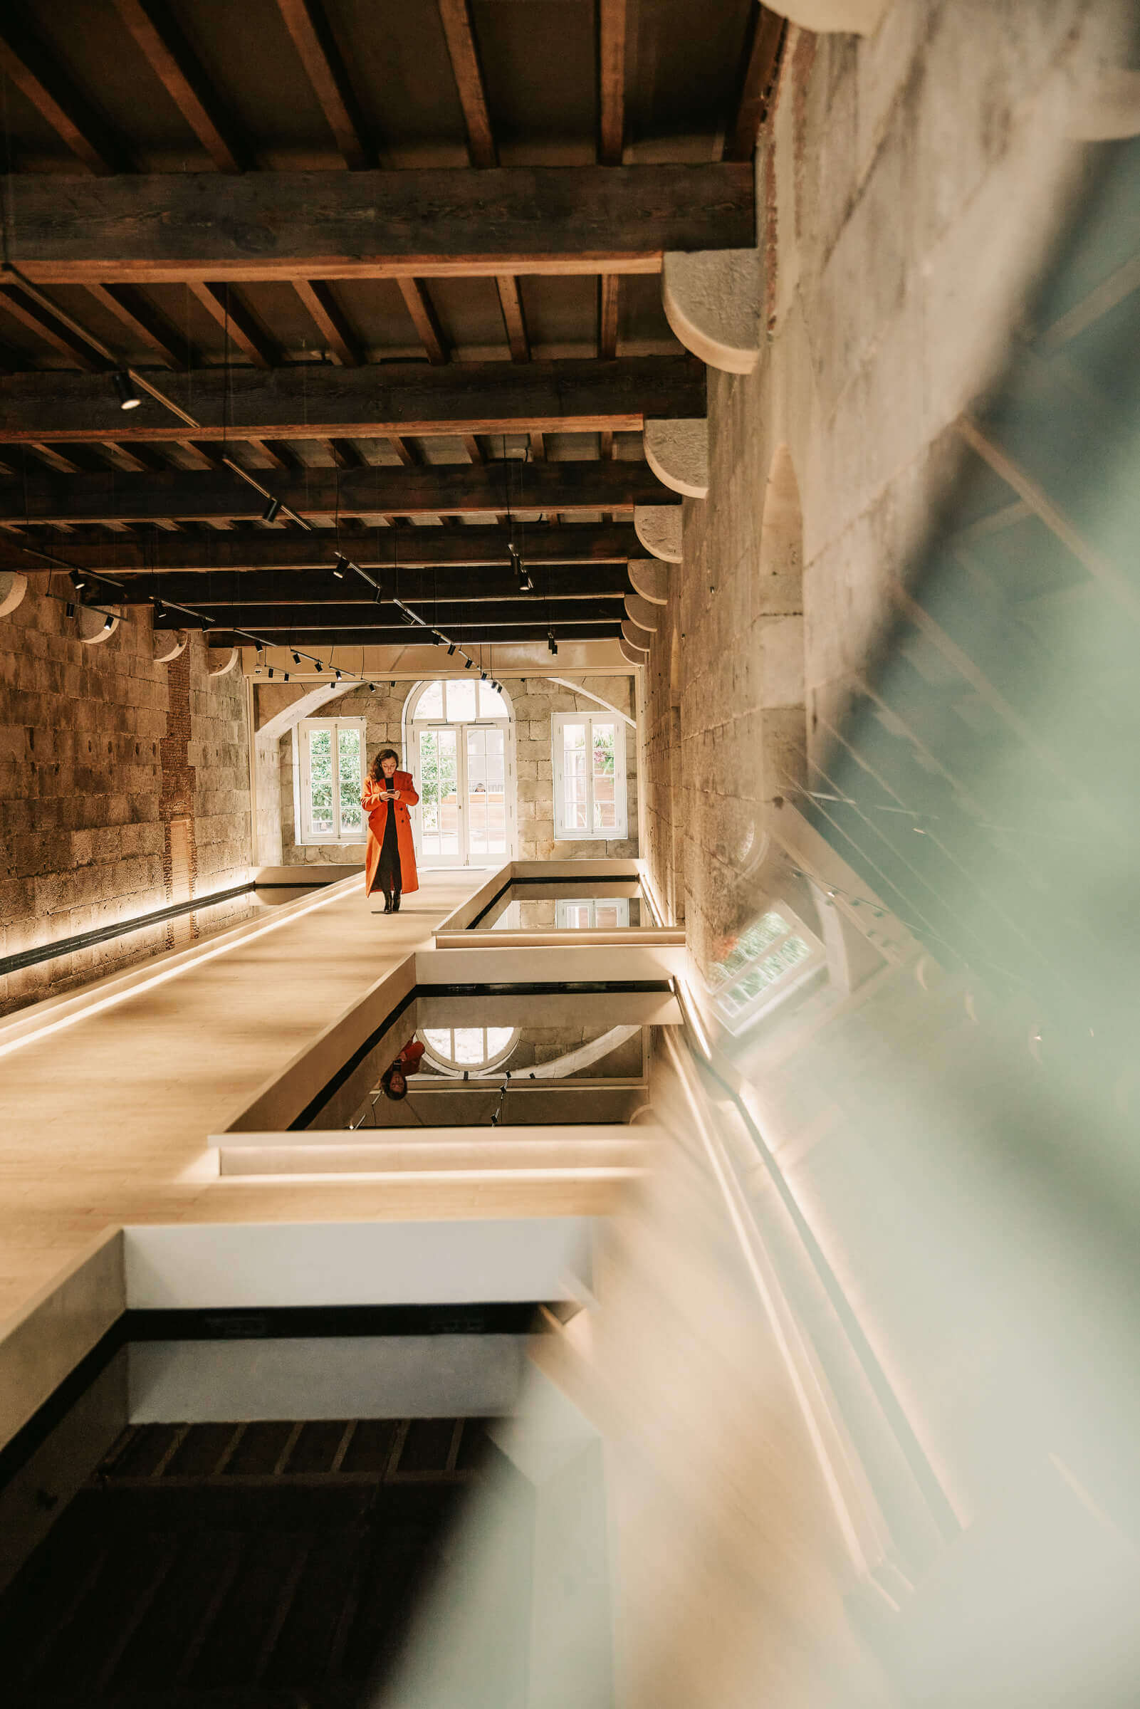
[[[762,907],[774,796],[827,752],[1072,202],[1087,0],[896,0],[791,29],[757,156],[750,376],[709,369],[709,496],[646,668],[646,856],[702,966]]]

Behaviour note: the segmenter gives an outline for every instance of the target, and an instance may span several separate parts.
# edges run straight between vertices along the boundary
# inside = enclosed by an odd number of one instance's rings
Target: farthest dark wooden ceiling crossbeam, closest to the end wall
[[[159,588],[159,596],[169,598],[171,595]],[[400,584],[400,598],[412,605],[403,583]],[[198,596],[198,600],[185,603],[214,617],[219,624],[253,629],[255,634],[268,634],[275,629],[397,629],[407,639],[408,632],[407,619],[391,600],[321,600],[316,603],[297,600],[296,603],[273,605],[227,605],[224,600],[207,602]],[[620,624],[626,615],[620,593],[595,595],[590,600],[545,600],[540,595],[520,596],[518,590],[514,590],[513,600],[484,600],[479,607],[465,598],[441,600],[439,603],[424,602],[424,610],[419,615],[436,629],[451,631],[468,620],[468,612],[475,612],[475,620],[484,629],[533,624],[544,634],[549,624],[588,624],[593,627],[596,624]],[[186,619],[179,612],[171,610],[166,617],[156,619],[156,627],[179,629],[185,622]]]

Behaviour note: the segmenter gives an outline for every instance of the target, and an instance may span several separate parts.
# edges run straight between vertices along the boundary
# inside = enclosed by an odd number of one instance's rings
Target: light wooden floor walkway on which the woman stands
[[[424,945],[485,873],[422,877],[398,916],[373,914],[354,880],[0,1061],[0,1319],[109,1225],[533,1213],[526,1184],[434,1188],[427,1207],[415,1186],[238,1184],[203,1167],[207,1135]],[[578,1195],[564,1208],[586,1207]]]

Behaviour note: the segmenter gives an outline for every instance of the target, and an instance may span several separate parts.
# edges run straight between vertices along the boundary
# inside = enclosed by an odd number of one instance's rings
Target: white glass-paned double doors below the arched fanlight
[[[506,723],[412,725],[424,866],[489,866],[514,843],[514,766]]]

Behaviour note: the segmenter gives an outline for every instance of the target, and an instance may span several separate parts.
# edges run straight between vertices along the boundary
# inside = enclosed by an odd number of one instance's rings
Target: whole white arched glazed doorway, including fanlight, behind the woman
[[[511,701],[479,677],[420,682],[405,702],[405,754],[424,866],[485,866],[514,853]]]

